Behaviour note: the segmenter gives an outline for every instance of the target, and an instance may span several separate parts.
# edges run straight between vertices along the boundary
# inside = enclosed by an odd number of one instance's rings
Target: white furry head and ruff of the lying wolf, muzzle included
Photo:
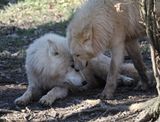
[[[53,86],[70,82],[81,86],[83,79],[72,67],[72,56],[66,38],[50,33],[35,40],[27,50],[26,70],[29,81],[35,76],[38,83]],[[48,82],[48,83],[46,83]]]

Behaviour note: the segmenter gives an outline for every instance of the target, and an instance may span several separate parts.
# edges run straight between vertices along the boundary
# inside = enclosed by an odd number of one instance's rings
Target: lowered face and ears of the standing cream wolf
[[[96,56],[93,49],[92,34],[92,29],[87,26],[80,32],[77,32],[75,28],[68,27],[67,39],[77,70],[85,68],[88,61]]]

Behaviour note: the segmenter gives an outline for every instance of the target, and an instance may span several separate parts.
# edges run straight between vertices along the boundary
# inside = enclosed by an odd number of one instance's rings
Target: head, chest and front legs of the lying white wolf
[[[35,40],[27,49],[26,73],[29,81],[26,92],[15,100],[26,105],[34,99],[51,105],[64,98],[74,87],[82,86],[83,78],[72,67],[66,39],[49,33]],[[44,91],[49,91],[43,95]]]

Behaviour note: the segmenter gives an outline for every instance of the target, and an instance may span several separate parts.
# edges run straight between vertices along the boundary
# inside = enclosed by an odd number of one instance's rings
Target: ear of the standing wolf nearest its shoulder
[[[83,29],[83,39],[81,40],[81,43],[84,44],[89,40],[92,40],[93,38],[93,26],[91,24],[88,24]]]

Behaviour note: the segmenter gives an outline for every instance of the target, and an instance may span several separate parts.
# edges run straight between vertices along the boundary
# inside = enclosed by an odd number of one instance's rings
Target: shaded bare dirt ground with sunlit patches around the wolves
[[[146,101],[156,96],[156,91],[136,91],[133,86],[119,86],[113,100],[100,100],[97,95],[102,89],[70,93],[57,100],[51,107],[34,102],[18,107],[14,100],[27,87],[25,74],[25,49],[40,35],[55,32],[64,35],[66,24],[40,26],[35,30],[21,30],[0,25],[0,122],[2,121],[64,121],[64,122],[134,122],[137,113],[128,110],[132,103]],[[63,30],[63,31],[62,31]],[[27,34],[28,35],[27,35]],[[26,41],[27,40],[27,41]],[[148,48],[141,43],[147,67],[151,67]],[[144,47],[144,48],[143,48]],[[147,53],[146,53],[147,52]]]

